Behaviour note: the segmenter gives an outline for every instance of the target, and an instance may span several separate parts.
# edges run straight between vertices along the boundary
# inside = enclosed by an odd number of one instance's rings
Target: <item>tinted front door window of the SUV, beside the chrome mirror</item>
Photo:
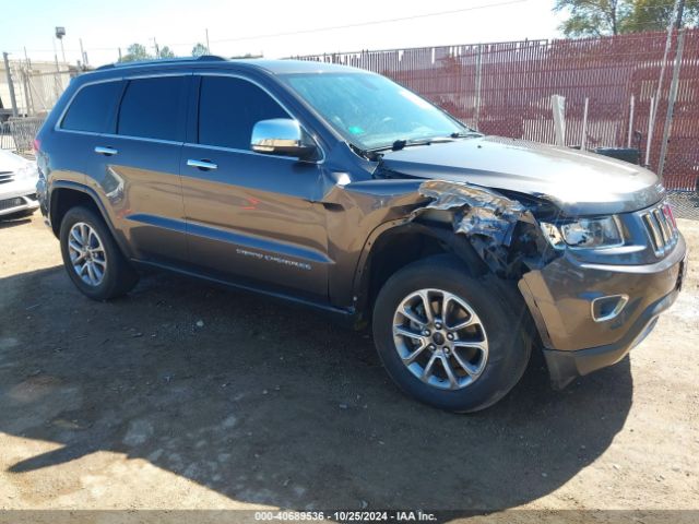
[[[249,150],[252,127],[288,114],[251,82],[230,76],[202,76],[199,93],[199,143]]]

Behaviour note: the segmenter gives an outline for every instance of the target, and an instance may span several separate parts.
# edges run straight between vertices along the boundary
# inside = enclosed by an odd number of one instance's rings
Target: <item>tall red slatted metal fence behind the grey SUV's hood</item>
[[[695,189],[699,177],[699,29],[685,31],[679,83],[663,182]],[[657,170],[678,37],[662,83],[650,146]],[[590,39],[524,40],[303,57],[384,74],[488,134],[554,142],[550,96],[566,97],[566,142],[581,142],[589,99],[587,146],[626,146],[631,119],[645,158],[651,97],[656,95],[665,33]],[[632,133],[638,136],[639,133]]]

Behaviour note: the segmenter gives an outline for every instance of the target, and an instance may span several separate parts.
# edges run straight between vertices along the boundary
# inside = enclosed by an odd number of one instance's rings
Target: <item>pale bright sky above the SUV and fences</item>
[[[132,43],[188,56],[197,43],[213,55],[265,58],[558,37],[554,0],[5,0],[0,51],[11,59],[61,60],[56,26],[66,27],[66,60],[114,62]],[[392,22],[389,22],[392,21]],[[341,27],[342,26],[342,27]]]

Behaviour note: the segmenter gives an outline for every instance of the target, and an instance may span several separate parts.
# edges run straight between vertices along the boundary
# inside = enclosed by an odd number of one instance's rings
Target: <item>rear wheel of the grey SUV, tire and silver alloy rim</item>
[[[68,276],[93,300],[126,295],[139,282],[138,273],[94,211],[83,206],[70,209],[61,222],[59,238]]]

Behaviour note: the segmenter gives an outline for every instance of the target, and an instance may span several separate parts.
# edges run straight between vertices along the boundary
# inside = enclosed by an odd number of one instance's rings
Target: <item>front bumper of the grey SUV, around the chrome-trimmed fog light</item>
[[[553,385],[565,388],[578,376],[616,364],[638,345],[677,298],[686,258],[680,235],[654,264],[584,264],[561,257],[526,273],[519,288],[544,343]],[[620,294],[628,302],[618,315],[595,321],[592,302]]]

